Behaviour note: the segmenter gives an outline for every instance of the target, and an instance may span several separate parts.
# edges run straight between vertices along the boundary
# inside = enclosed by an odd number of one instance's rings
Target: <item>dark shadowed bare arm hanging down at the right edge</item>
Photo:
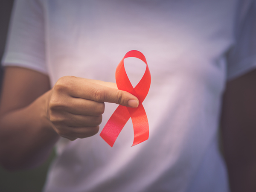
[[[256,191],[256,70],[227,83],[221,119],[232,192]]]

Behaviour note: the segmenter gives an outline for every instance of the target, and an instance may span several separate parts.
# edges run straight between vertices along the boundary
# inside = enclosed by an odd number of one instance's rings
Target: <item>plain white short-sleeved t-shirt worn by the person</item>
[[[113,148],[99,134],[61,139],[44,191],[228,192],[221,96],[228,79],[256,67],[255,8],[254,0],[18,0],[4,65],[48,74],[52,86],[67,75],[115,82],[117,64],[136,49],[152,78],[149,139],[131,147],[131,119]],[[144,65],[125,64],[132,81]],[[106,104],[100,131],[116,107]]]

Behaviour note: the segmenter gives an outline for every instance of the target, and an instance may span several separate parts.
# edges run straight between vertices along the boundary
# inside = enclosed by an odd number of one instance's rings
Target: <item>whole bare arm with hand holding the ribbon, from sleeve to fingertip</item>
[[[104,102],[137,107],[138,99],[113,83],[67,76],[50,90],[49,78],[6,67],[0,104],[0,162],[7,169],[42,163],[59,136],[70,140],[99,131]]]

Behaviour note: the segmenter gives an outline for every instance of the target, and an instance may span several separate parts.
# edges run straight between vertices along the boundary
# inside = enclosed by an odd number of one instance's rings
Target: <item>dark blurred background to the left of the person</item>
[[[0,59],[6,44],[12,6],[13,0],[0,0]],[[2,87],[2,78],[3,68],[1,67],[0,88]],[[49,159],[43,165],[32,170],[7,172],[0,166],[0,192],[40,192],[54,156],[55,152],[52,151]]]

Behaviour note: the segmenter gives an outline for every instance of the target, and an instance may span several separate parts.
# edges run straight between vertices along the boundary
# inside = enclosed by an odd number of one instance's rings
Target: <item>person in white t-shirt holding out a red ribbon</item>
[[[17,0],[2,61],[1,163],[35,167],[56,144],[45,192],[255,191],[255,9],[254,0]],[[131,147],[129,120],[111,148],[98,132],[113,103],[138,105],[114,83],[133,49],[151,71],[149,139]],[[131,80],[137,65],[125,65]]]

